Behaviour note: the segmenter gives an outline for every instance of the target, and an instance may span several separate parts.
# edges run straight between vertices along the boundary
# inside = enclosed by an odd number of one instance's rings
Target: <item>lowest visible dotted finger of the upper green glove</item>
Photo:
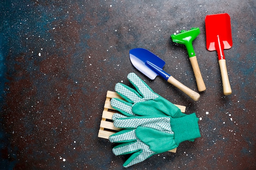
[[[132,112],[132,104],[125,102],[124,100],[112,98],[110,100],[110,104],[113,108],[117,109],[117,111],[128,117],[134,115],[134,113]]]

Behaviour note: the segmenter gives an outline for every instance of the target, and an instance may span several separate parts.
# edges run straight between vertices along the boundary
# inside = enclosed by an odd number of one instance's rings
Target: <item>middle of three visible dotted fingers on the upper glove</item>
[[[125,84],[117,83],[115,86],[115,91],[127,102],[132,104],[141,101],[142,98],[137,91],[126,86]]]

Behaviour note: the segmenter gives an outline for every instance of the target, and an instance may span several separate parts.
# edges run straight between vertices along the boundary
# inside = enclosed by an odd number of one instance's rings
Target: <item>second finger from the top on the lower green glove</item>
[[[110,142],[130,142],[136,141],[135,129],[124,129],[109,137]]]

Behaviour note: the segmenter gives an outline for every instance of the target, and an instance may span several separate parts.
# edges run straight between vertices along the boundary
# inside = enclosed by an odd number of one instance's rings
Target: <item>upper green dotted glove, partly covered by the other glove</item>
[[[137,91],[125,84],[117,83],[115,91],[127,102],[117,98],[112,98],[110,101],[111,106],[122,114],[127,117],[135,115],[171,116],[173,118],[186,116],[177,106],[153,92],[135,73],[129,73],[127,78]]]

